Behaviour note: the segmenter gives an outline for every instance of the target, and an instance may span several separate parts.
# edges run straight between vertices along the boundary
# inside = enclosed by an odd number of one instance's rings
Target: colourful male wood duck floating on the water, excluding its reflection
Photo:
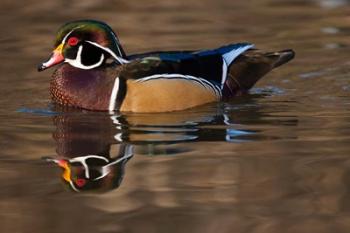
[[[42,71],[55,103],[98,111],[167,112],[227,100],[294,57],[292,50],[262,52],[253,44],[212,50],[149,52],[127,56],[105,23],[63,25]]]

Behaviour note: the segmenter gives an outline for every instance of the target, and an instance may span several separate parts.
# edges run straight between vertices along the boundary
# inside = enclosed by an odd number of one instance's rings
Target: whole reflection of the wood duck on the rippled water
[[[53,138],[57,156],[46,159],[63,169],[62,180],[71,190],[105,192],[119,187],[136,146],[141,154],[173,155],[189,150],[171,146],[178,142],[256,140],[257,131],[242,129],[239,119],[246,114],[259,116],[258,112],[229,115],[217,109],[110,115],[56,108]]]

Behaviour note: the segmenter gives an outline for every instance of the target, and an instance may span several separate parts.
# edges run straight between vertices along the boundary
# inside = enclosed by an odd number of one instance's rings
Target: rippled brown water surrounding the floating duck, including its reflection
[[[349,232],[349,1],[29,0],[0,13],[0,232]],[[111,24],[128,53],[250,41],[297,58],[228,103],[53,108],[52,71],[36,65],[78,18]],[[96,180],[74,184],[90,192],[64,181],[63,157],[75,178],[91,167]]]

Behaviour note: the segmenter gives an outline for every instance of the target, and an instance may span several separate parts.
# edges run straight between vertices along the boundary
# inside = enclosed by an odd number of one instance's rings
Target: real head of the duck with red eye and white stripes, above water
[[[94,69],[109,58],[119,64],[127,63],[113,30],[95,20],[73,21],[58,30],[54,50],[50,58],[38,66],[38,71],[63,62],[80,69]]]

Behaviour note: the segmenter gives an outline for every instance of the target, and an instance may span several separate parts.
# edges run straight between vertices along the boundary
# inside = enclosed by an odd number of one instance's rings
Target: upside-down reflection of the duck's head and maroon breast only
[[[62,168],[61,178],[76,192],[119,187],[133,146],[116,144],[117,129],[107,115],[65,112],[53,117],[57,157],[45,158]],[[116,144],[114,148],[113,144]]]

